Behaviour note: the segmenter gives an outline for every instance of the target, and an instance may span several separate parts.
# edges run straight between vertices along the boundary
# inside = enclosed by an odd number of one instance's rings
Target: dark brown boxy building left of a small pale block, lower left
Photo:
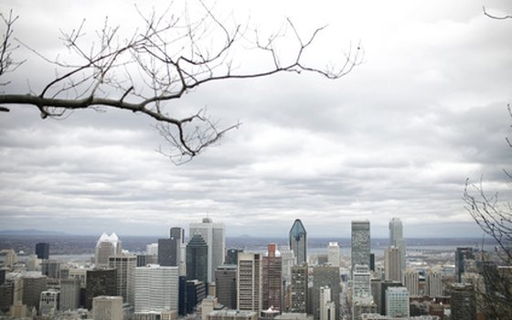
[[[28,310],[38,308],[41,293],[48,290],[47,279],[37,273],[26,274],[15,286],[14,302],[21,300]]]

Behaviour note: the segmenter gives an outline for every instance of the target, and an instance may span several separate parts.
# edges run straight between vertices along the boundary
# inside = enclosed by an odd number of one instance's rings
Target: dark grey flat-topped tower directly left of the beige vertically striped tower
[[[237,308],[237,265],[219,265],[215,271],[215,295],[219,304],[229,309]]]

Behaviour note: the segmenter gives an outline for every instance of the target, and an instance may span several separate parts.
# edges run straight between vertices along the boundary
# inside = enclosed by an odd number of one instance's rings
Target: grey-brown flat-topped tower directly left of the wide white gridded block
[[[117,272],[117,295],[123,302],[135,304],[135,268],[137,257],[133,255],[115,255],[109,257],[109,268]]]

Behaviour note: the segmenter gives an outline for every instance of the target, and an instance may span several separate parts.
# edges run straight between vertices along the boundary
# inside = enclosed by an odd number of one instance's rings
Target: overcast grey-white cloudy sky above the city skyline
[[[82,18],[89,32],[104,16],[139,21],[133,2],[104,3],[7,0],[2,10],[20,16],[16,37],[55,57],[66,51],[59,29]],[[180,166],[155,152],[165,141],[142,115],[42,120],[11,106],[0,114],[0,229],[162,237],[208,215],[228,236],[287,237],[299,218],[312,237],[349,237],[354,219],[387,237],[397,217],[406,237],[480,237],[465,179],[482,176],[507,198],[512,159],[512,19],[490,19],[482,5],[512,13],[509,1],[487,0],[219,1],[219,15],[250,16],[263,31],[287,17],[304,34],[328,25],[310,57],[319,66],[359,41],[364,62],[341,80],[281,74],[190,92],[180,105],[242,125]],[[53,76],[36,55],[18,55],[27,63],[1,91],[37,91]]]

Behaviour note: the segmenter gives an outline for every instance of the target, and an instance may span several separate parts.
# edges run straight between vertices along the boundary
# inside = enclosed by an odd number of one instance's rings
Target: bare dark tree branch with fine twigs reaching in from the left
[[[286,37],[285,32],[271,36],[265,45],[256,37],[253,40],[236,23],[221,21],[211,8],[199,1],[200,16],[169,15],[170,9],[157,16],[147,15],[137,9],[143,27],[132,37],[120,39],[121,27],[111,27],[108,20],[97,31],[94,42],[84,37],[85,24],[70,32],[61,31],[64,45],[76,59],[48,59],[37,49],[26,48],[56,67],[56,76],[39,93],[0,94],[0,104],[32,105],[43,119],[65,117],[78,109],[120,109],[143,113],[157,122],[155,128],[173,147],[165,153],[173,161],[187,161],[215,144],[240,123],[219,128],[204,111],[189,116],[176,116],[172,102],[195,88],[220,80],[242,80],[272,76],[276,73],[313,72],[327,79],[339,79],[361,63],[363,51],[350,48],[338,68],[318,69],[304,62],[305,52],[314,46],[315,38],[325,28],[319,27],[309,37],[302,37],[291,20],[287,26],[293,30],[296,48],[287,62],[276,50],[277,42]],[[7,31],[3,38],[0,57],[1,70],[19,66],[11,58],[16,47],[11,47],[12,27],[17,16],[12,13],[4,19]],[[267,67],[260,69],[234,69],[235,51],[250,41],[260,53]],[[252,68],[253,66],[251,66]],[[3,74],[0,73],[0,76]],[[7,111],[2,107],[0,111]],[[160,151],[164,153],[164,151]]]

